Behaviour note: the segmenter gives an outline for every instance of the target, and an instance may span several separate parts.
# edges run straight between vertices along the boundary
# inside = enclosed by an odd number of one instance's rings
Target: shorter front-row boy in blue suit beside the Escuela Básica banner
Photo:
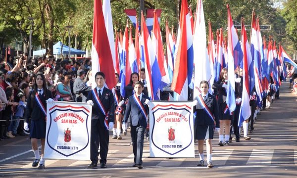
[[[134,84],[135,94],[129,97],[124,115],[123,126],[131,115],[131,138],[134,154],[133,167],[143,168],[142,155],[144,150],[144,136],[148,125],[148,103],[149,97],[143,94],[144,84],[137,81]]]

